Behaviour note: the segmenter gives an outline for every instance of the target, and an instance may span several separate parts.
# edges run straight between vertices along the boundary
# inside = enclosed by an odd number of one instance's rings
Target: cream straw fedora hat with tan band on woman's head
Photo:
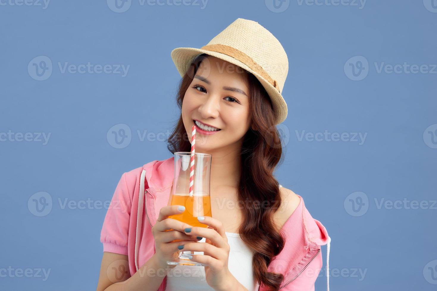
[[[201,48],[175,48],[171,58],[183,77],[200,54],[208,54],[251,72],[266,89],[276,124],[287,117],[281,95],[288,74],[288,58],[281,43],[258,22],[238,18]]]

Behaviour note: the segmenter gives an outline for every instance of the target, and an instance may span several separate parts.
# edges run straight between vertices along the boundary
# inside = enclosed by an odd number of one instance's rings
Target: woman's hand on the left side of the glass
[[[156,257],[161,265],[166,265],[167,261],[173,261],[178,258],[179,252],[183,250],[179,250],[177,246],[198,241],[197,236],[189,236],[184,232],[185,228],[192,227],[191,225],[168,218],[168,216],[184,212],[179,211],[177,209],[178,206],[181,205],[169,205],[161,208],[156,224],[152,227]],[[172,230],[166,231],[166,229]],[[173,242],[173,240],[180,241]],[[172,269],[176,265],[170,265],[169,267]]]

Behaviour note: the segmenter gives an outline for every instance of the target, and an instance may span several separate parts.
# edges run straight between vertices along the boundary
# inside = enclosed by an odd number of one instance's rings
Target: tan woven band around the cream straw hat
[[[257,62],[255,62],[250,56],[246,55],[243,51],[239,51],[238,49],[232,48],[229,45],[221,45],[221,44],[205,45],[200,49],[207,50],[207,51],[215,51],[221,54],[229,55],[232,58],[235,58],[236,60],[248,66],[252,71],[257,72],[257,74],[261,75],[261,77],[266,79],[273,87],[277,89],[278,92],[280,92],[276,80],[272,79],[270,75],[267,74],[266,71],[264,71],[263,67],[258,65]]]

